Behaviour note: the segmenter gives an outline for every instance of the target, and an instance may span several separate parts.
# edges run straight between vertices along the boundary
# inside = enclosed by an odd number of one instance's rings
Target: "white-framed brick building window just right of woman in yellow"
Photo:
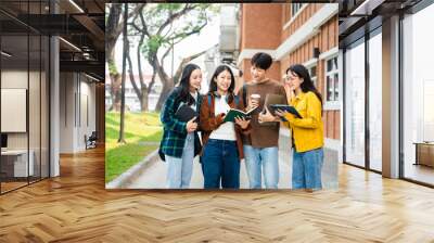
[[[337,77],[337,56],[326,61],[326,102],[337,102],[339,93],[339,77]]]

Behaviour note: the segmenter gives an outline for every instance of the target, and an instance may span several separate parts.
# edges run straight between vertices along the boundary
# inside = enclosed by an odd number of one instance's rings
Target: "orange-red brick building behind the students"
[[[268,76],[283,81],[291,64],[308,67],[323,97],[326,146],[341,154],[337,4],[241,4],[237,65],[250,81],[251,57],[259,51],[273,57]],[[340,161],[342,156],[339,156]]]

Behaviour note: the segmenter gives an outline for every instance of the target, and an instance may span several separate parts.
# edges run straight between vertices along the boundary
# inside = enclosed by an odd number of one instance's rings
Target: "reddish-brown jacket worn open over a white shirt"
[[[218,115],[215,116],[215,93],[209,94],[212,97],[210,99],[210,104],[208,103],[208,94],[203,95],[202,100],[202,105],[201,105],[201,115],[200,115],[200,129],[202,130],[202,151],[201,155],[203,153],[203,150],[205,149],[205,144],[209,139],[210,132],[216,130],[221,124],[222,124],[222,116]],[[239,104],[238,107],[235,107],[235,99],[232,97],[232,99],[229,99],[229,106],[231,108],[238,108],[241,111],[244,111],[244,103],[243,99],[239,99]],[[244,152],[243,152],[243,139],[242,135],[247,135],[251,131],[251,125],[246,129],[242,129],[238,124],[234,123],[235,126],[235,136],[237,136],[237,148],[238,148],[238,154],[240,159],[244,158]]]

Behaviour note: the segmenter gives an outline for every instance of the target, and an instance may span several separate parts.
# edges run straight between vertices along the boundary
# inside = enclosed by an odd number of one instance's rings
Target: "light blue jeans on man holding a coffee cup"
[[[279,154],[277,146],[253,148],[244,145],[245,167],[251,189],[263,187],[264,170],[265,187],[277,189],[279,183]]]

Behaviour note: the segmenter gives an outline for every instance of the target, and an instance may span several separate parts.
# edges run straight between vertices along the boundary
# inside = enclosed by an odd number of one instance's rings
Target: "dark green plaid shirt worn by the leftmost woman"
[[[181,104],[180,101],[177,101],[179,92],[180,88],[177,87],[169,93],[166,102],[163,105],[163,110],[159,116],[164,127],[163,139],[159,145],[159,150],[163,154],[173,157],[182,157],[182,150],[187,138],[187,123],[181,122],[175,117],[175,113],[176,111],[178,111],[178,107]],[[199,95],[196,101],[197,113],[201,107],[201,101],[202,97]],[[197,131],[194,131],[194,155],[197,155],[200,151],[201,142],[199,140]]]

